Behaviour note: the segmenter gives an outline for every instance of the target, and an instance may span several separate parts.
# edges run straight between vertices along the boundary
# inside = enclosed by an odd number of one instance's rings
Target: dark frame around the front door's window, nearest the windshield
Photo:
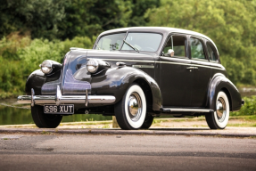
[[[175,56],[175,52],[174,52],[174,56],[172,56],[172,57],[167,57],[167,56],[163,56],[162,55],[162,52],[163,52],[163,49],[164,49],[164,47],[165,47],[165,45],[167,45],[167,43],[169,42],[169,38],[171,38],[172,39],[172,37],[173,36],[180,36],[180,37],[186,37],[186,51],[185,51],[185,53],[186,53],[186,56]],[[171,40],[171,44],[172,44],[172,48],[173,48],[173,39]],[[173,49],[172,49],[173,50]],[[189,52],[188,52],[188,35],[186,35],[186,34],[182,34],[182,33],[170,33],[168,36],[167,36],[167,38],[166,38],[166,40],[165,40],[165,43],[162,45],[162,47],[161,47],[161,54],[160,54],[160,56],[161,57],[165,57],[165,58],[175,58],[175,59],[187,59],[187,60],[189,60],[190,58],[189,58]]]

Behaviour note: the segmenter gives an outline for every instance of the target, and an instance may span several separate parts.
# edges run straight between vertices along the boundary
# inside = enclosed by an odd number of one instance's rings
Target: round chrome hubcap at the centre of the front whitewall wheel
[[[132,93],[128,98],[128,114],[131,120],[137,121],[141,117],[142,101],[139,94]]]

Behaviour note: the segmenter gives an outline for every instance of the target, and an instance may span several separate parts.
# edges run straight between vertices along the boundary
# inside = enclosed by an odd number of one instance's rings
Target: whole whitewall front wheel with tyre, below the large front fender
[[[130,85],[122,100],[115,105],[115,116],[122,129],[138,129],[145,122],[145,94],[139,85]]]

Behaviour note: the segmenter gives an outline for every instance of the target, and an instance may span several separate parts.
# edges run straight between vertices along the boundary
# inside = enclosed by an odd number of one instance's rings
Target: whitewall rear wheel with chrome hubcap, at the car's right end
[[[216,98],[216,111],[205,115],[211,129],[224,129],[229,118],[229,102],[227,95],[220,91]]]

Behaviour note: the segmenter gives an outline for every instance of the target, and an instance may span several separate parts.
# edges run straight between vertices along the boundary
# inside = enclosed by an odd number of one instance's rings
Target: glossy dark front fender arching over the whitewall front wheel
[[[128,86],[137,79],[143,79],[150,86],[153,96],[153,110],[161,109],[161,90],[153,77],[147,75],[140,69],[131,67],[119,67],[106,69],[99,75],[92,76],[91,94],[95,95],[114,95],[116,102],[119,102],[127,92]]]

